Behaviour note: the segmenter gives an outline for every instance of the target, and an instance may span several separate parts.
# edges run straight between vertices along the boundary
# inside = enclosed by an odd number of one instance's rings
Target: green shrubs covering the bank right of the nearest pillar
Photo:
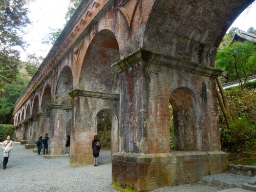
[[[230,153],[230,159],[233,162],[253,164],[254,159],[256,163],[256,93],[246,88],[240,90],[235,87],[226,90],[226,95],[233,121],[227,127],[221,120],[223,114],[219,109],[222,148]],[[240,159],[236,159],[234,154],[237,154]]]

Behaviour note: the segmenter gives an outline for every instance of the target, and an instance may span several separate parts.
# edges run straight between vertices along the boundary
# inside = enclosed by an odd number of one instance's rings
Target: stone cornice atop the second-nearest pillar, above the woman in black
[[[84,90],[77,90],[77,89],[69,92],[69,95],[72,98],[77,97],[77,96],[84,96],[84,97],[98,97],[98,98],[104,98],[104,99],[119,100],[119,94],[84,91]]]

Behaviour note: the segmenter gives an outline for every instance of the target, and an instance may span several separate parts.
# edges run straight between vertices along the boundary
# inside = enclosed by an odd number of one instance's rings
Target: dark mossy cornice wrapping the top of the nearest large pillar
[[[222,73],[222,71],[219,69],[201,66],[195,62],[183,60],[169,55],[164,55],[142,48],[112,64],[112,67],[114,67],[116,71],[122,72],[140,61],[164,65],[174,69],[186,70],[190,71],[191,73],[199,73],[201,75],[214,78],[220,76]]]

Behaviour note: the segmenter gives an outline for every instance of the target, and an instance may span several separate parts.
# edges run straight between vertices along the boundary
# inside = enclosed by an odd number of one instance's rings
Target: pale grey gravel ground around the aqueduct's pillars
[[[38,156],[33,153],[32,150],[25,150],[24,145],[13,147],[5,170],[2,168],[3,155],[0,157],[0,186],[2,192],[42,190],[75,192],[95,191],[95,189],[96,191],[117,191],[111,185],[110,151],[100,151],[98,167],[93,165],[70,167],[68,157],[44,158],[42,155]],[[218,177],[218,175],[212,177]],[[227,178],[225,175],[221,177]],[[197,182],[163,187],[152,191],[214,192],[221,189],[223,188]]]

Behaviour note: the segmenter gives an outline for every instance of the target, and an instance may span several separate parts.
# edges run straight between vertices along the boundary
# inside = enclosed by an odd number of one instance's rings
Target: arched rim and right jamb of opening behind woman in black
[[[111,154],[119,152],[119,121],[116,113],[111,109],[102,109],[96,115],[98,121],[98,114],[103,111],[111,117]],[[98,122],[96,123],[98,125]],[[95,127],[95,135],[97,135],[97,127]]]

